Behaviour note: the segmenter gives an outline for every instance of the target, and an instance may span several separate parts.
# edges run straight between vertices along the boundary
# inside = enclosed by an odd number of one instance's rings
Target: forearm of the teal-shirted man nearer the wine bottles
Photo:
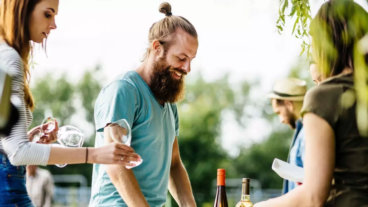
[[[182,163],[170,168],[169,191],[180,207],[196,207],[188,173]]]

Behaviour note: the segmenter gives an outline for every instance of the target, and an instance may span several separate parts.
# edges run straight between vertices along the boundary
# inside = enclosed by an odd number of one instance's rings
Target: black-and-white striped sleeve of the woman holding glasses
[[[1,44],[0,47],[4,47]],[[0,151],[5,152],[12,165],[47,165],[51,146],[31,143],[27,129],[32,122],[32,115],[24,101],[24,70],[17,51],[13,48],[0,50],[0,67],[13,76],[11,102],[19,110],[19,120],[11,129],[8,137],[0,138]],[[28,113],[27,113],[28,112]]]

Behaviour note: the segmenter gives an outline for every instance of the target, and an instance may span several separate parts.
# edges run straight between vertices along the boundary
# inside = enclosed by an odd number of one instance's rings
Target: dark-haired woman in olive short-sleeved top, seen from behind
[[[305,95],[301,112],[304,183],[255,207],[368,206],[368,137],[358,131],[354,98],[354,71],[367,68],[354,66],[353,58],[367,31],[368,13],[351,0],[326,1],[319,9],[310,26],[318,85]],[[368,55],[359,55],[367,67]]]

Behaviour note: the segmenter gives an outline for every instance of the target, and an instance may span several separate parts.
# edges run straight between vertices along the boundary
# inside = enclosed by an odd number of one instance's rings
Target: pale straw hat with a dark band
[[[283,78],[273,85],[273,91],[267,94],[268,98],[289,101],[303,101],[307,92],[307,82],[298,78]]]

